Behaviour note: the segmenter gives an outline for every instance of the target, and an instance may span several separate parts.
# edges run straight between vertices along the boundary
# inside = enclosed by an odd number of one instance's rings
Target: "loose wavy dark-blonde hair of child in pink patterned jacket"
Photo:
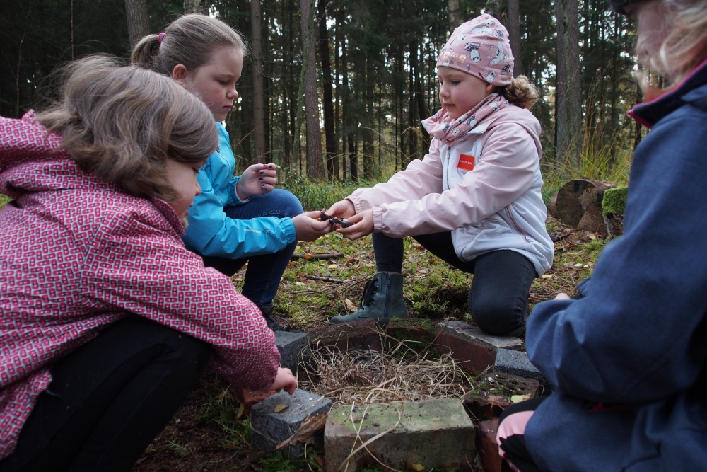
[[[81,168],[138,197],[173,202],[167,159],[204,161],[218,147],[214,116],[172,79],[117,59],[69,63],[59,100],[37,115]]]

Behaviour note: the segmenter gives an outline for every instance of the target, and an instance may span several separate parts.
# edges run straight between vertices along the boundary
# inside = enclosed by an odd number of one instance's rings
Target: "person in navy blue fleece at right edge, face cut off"
[[[499,451],[529,471],[707,471],[707,2],[612,0],[638,22],[650,128],[624,236],[578,295],[538,304],[532,363],[554,393],[501,416]],[[639,74],[640,76],[640,74]]]

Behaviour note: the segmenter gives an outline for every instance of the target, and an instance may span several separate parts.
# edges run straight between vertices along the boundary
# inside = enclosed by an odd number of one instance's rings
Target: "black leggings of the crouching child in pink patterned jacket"
[[[51,368],[8,471],[129,471],[204,372],[208,344],[127,316]]]

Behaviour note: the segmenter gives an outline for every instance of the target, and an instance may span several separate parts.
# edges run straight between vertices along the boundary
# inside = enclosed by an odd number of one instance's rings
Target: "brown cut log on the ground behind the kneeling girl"
[[[552,196],[549,212],[568,226],[607,236],[602,214],[604,191],[616,184],[588,178],[570,180]]]

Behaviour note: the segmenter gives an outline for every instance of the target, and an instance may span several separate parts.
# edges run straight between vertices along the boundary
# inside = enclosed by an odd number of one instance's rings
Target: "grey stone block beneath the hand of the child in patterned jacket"
[[[287,408],[280,410],[281,407],[276,408],[278,405],[287,405]],[[275,393],[252,409],[250,444],[264,451],[274,451],[279,442],[288,439],[297,431],[307,415],[321,415],[331,408],[332,401],[329,398],[317,396],[300,388],[292,396],[286,391]],[[275,410],[279,412],[276,413]],[[290,457],[296,457],[303,454],[304,445],[297,443],[279,450]]]

